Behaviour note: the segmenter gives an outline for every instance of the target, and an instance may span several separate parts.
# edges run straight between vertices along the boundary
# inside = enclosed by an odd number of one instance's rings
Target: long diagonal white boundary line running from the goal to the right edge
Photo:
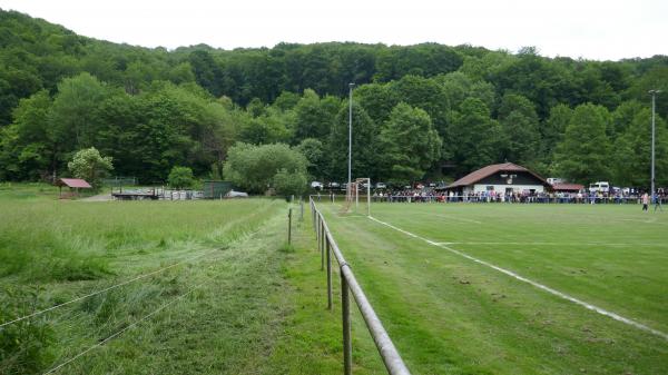
[[[372,217],[372,216],[370,216],[369,218],[370,218],[370,219],[372,219],[373,221],[376,221],[376,223],[379,223],[379,224],[382,224],[382,225],[384,225],[384,226],[387,226],[387,227],[390,227],[390,228],[392,228],[392,229],[394,229],[394,230],[401,231],[401,233],[403,233],[403,234],[404,234],[404,235],[406,235],[406,236],[410,236],[410,237],[413,237],[413,238],[416,238],[416,239],[421,239],[421,240],[423,240],[423,241],[425,241],[425,243],[428,243],[428,244],[430,244],[430,245],[433,245],[433,246],[438,246],[438,247],[444,248],[444,249],[446,249],[446,250],[449,250],[449,251],[451,251],[451,253],[454,253],[454,254],[456,254],[456,255],[459,255],[459,256],[461,256],[461,257],[464,257],[464,258],[466,258],[466,259],[469,259],[469,260],[475,261],[475,263],[478,263],[478,264],[481,264],[481,265],[483,265],[483,266],[488,266],[488,267],[490,267],[490,268],[493,268],[493,269],[495,269],[495,270],[498,270],[498,272],[500,272],[500,273],[502,273],[502,274],[505,274],[505,275],[508,275],[508,276],[510,276],[510,277],[513,277],[513,278],[515,278],[515,279],[518,279],[518,280],[520,280],[520,282],[524,282],[524,283],[527,283],[527,284],[530,284],[530,285],[532,285],[532,286],[534,286],[534,287],[539,288],[539,289],[542,289],[542,290],[544,290],[544,292],[548,292],[548,293],[550,293],[550,294],[552,294],[552,295],[554,295],[554,296],[558,296],[558,297],[560,297],[560,298],[563,298],[563,299],[570,300],[570,302],[572,302],[573,304],[580,305],[580,306],[582,306],[582,307],[584,307],[584,308],[587,308],[587,309],[590,309],[590,310],[592,310],[592,312],[596,312],[596,313],[599,313],[599,314],[601,314],[601,315],[605,315],[605,316],[611,317],[611,318],[613,318],[615,320],[618,320],[618,322],[625,323],[625,324],[627,324],[627,325],[630,325],[630,326],[632,326],[632,327],[636,327],[636,328],[638,328],[638,329],[641,329],[641,330],[645,330],[645,332],[651,333],[651,334],[654,334],[654,335],[657,335],[657,336],[659,336],[659,337],[662,337],[664,339],[667,339],[667,341],[668,341],[668,334],[666,334],[666,333],[664,333],[664,332],[657,330],[657,329],[655,329],[655,328],[650,328],[650,327],[648,327],[648,326],[646,326],[646,325],[644,325],[644,324],[641,324],[641,323],[638,323],[638,322],[636,322],[636,320],[632,320],[632,319],[626,318],[626,317],[623,317],[623,316],[621,316],[621,315],[618,315],[618,314],[615,314],[615,313],[612,313],[612,312],[608,312],[607,309],[603,309],[603,308],[601,308],[601,307],[598,307],[598,306],[595,306],[595,305],[588,304],[588,303],[586,303],[586,302],[583,302],[583,300],[580,300],[580,299],[578,299],[578,298],[576,298],[576,297],[569,296],[569,295],[568,295],[568,294],[566,294],[566,293],[561,293],[561,292],[559,292],[559,290],[557,290],[557,289],[552,289],[552,288],[550,288],[549,286],[544,286],[544,285],[542,285],[542,284],[540,284],[540,283],[537,283],[537,282],[534,282],[534,280],[531,280],[531,279],[529,279],[529,278],[525,278],[525,277],[523,277],[523,276],[520,276],[520,275],[518,275],[518,274],[513,273],[512,270],[508,270],[508,269],[505,269],[505,268],[501,268],[501,267],[499,267],[499,266],[495,266],[495,265],[493,265],[493,264],[491,264],[491,263],[488,263],[488,261],[484,261],[484,260],[480,260],[480,259],[478,259],[478,258],[475,258],[475,257],[472,257],[472,256],[470,256],[470,255],[468,255],[468,254],[465,254],[465,253],[459,251],[459,250],[456,250],[456,249],[453,249],[452,247],[449,247],[449,246],[446,246],[446,245],[443,245],[443,243],[434,243],[434,241],[433,241],[433,240],[431,240],[431,239],[426,239],[426,238],[424,238],[424,237],[420,237],[420,236],[418,236],[418,235],[415,235],[415,234],[412,234],[412,233],[410,233],[410,231],[407,231],[407,230],[404,230],[404,229],[401,229],[401,228],[399,228],[399,227],[395,227],[395,226],[393,226],[392,224],[389,224],[389,223],[385,223],[385,221],[381,221],[381,220],[379,220],[379,219],[376,219],[375,217]]]

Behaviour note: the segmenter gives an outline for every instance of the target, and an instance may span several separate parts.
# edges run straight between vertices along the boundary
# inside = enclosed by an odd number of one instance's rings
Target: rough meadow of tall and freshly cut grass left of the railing
[[[0,324],[76,300],[0,327],[0,374],[283,366],[284,200],[85,203],[3,185],[0,211]]]

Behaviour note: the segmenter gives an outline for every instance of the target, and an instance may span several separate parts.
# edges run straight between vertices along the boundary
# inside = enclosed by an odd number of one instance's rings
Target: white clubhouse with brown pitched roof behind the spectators
[[[538,174],[512,162],[478,169],[445,187],[460,195],[495,191],[497,194],[543,193],[551,185]]]

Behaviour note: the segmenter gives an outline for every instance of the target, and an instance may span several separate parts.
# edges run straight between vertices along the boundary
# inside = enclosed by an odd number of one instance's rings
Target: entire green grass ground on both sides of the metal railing
[[[286,246],[287,207],[60,201],[48,186],[0,185],[0,324],[127,282],[0,328],[0,374],[41,374],[72,358],[56,373],[341,374],[338,283],[328,312],[310,215],[295,215]],[[667,373],[666,339],[448,250],[665,333],[662,214],[372,207],[433,246],[320,207],[413,374]],[[355,374],[385,373],[355,308],[353,361]]]

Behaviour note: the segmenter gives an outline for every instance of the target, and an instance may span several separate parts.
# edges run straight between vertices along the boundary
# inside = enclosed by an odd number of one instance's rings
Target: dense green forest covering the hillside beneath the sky
[[[225,36],[220,36],[225,38]],[[613,41],[611,41],[613,42]],[[471,46],[281,43],[173,51],[111,43],[0,10],[0,180],[66,175],[96,147],[114,174],[225,178],[237,142],[286,144],[317,180],[452,179],[504,160],[578,182],[668,185],[668,57],[589,61]]]

